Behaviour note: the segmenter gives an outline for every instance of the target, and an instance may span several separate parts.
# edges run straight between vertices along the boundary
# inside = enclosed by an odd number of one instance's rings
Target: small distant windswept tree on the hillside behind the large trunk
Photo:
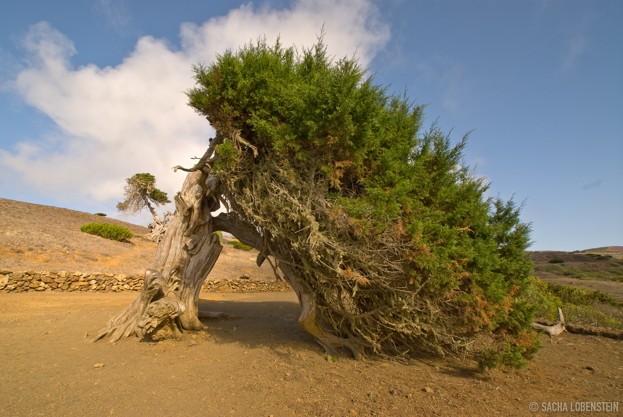
[[[166,232],[166,226],[169,221],[171,213],[164,214],[164,218],[158,218],[155,209],[151,206],[151,203],[156,204],[156,207],[160,204],[171,203],[164,191],[160,191],[156,188],[156,177],[150,173],[135,174],[125,180],[128,185],[125,186],[126,199],[123,203],[117,204],[117,210],[127,216],[134,216],[141,213],[144,208],[150,210],[151,216],[154,218],[154,223],[150,224],[150,233],[146,234],[144,238],[150,239],[154,242],[159,242]]]

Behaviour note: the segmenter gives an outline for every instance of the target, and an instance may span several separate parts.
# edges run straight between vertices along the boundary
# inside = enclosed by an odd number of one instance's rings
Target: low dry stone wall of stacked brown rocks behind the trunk
[[[142,276],[125,274],[92,274],[67,271],[7,271],[0,269],[1,292],[24,291],[140,291]],[[249,276],[234,279],[206,279],[201,292],[282,292],[292,291],[285,282],[255,280]]]

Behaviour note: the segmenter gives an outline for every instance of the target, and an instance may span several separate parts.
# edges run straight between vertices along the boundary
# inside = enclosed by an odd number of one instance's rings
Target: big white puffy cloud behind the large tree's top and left
[[[375,11],[368,1],[301,0],[282,10],[240,6],[201,26],[181,24],[180,50],[145,36],[121,64],[104,68],[72,67],[74,43],[39,22],[22,43],[26,67],[11,87],[58,130],[0,149],[2,186],[32,189],[61,204],[112,207],[123,199],[125,178],[149,172],[159,188],[175,193],[184,174],[174,174],[171,166],[191,165],[189,158],[201,155],[213,135],[186,105],[191,64],[210,62],[216,53],[260,36],[273,42],[280,35],[282,44],[299,49],[312,46],[324,24],[330,54],[357,50],[368,65],[389,39]]]

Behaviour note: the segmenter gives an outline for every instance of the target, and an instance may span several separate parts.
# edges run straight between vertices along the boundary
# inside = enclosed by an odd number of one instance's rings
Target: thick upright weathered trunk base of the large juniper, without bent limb
[[[181,329],[203,327],[197,309],[199,291],[222,250],[219,237],[212,233],[211,216],[211,211],[218,209],[220,203],[209,195],[218,193],[214,188],[220,185],[220,180],[214,176],[204,180],[205,177],[202,171],[186,176],[181,191],[174,198],[173,219],[158,245],[155,271],[145,272],[141,295],[111,319],[93,342],[105,335],[111,336],[111,342],[130,335],[176,338]],[[164,281],[159,278],[162,274]],[[211,315],[210,312],[201,314]]]

